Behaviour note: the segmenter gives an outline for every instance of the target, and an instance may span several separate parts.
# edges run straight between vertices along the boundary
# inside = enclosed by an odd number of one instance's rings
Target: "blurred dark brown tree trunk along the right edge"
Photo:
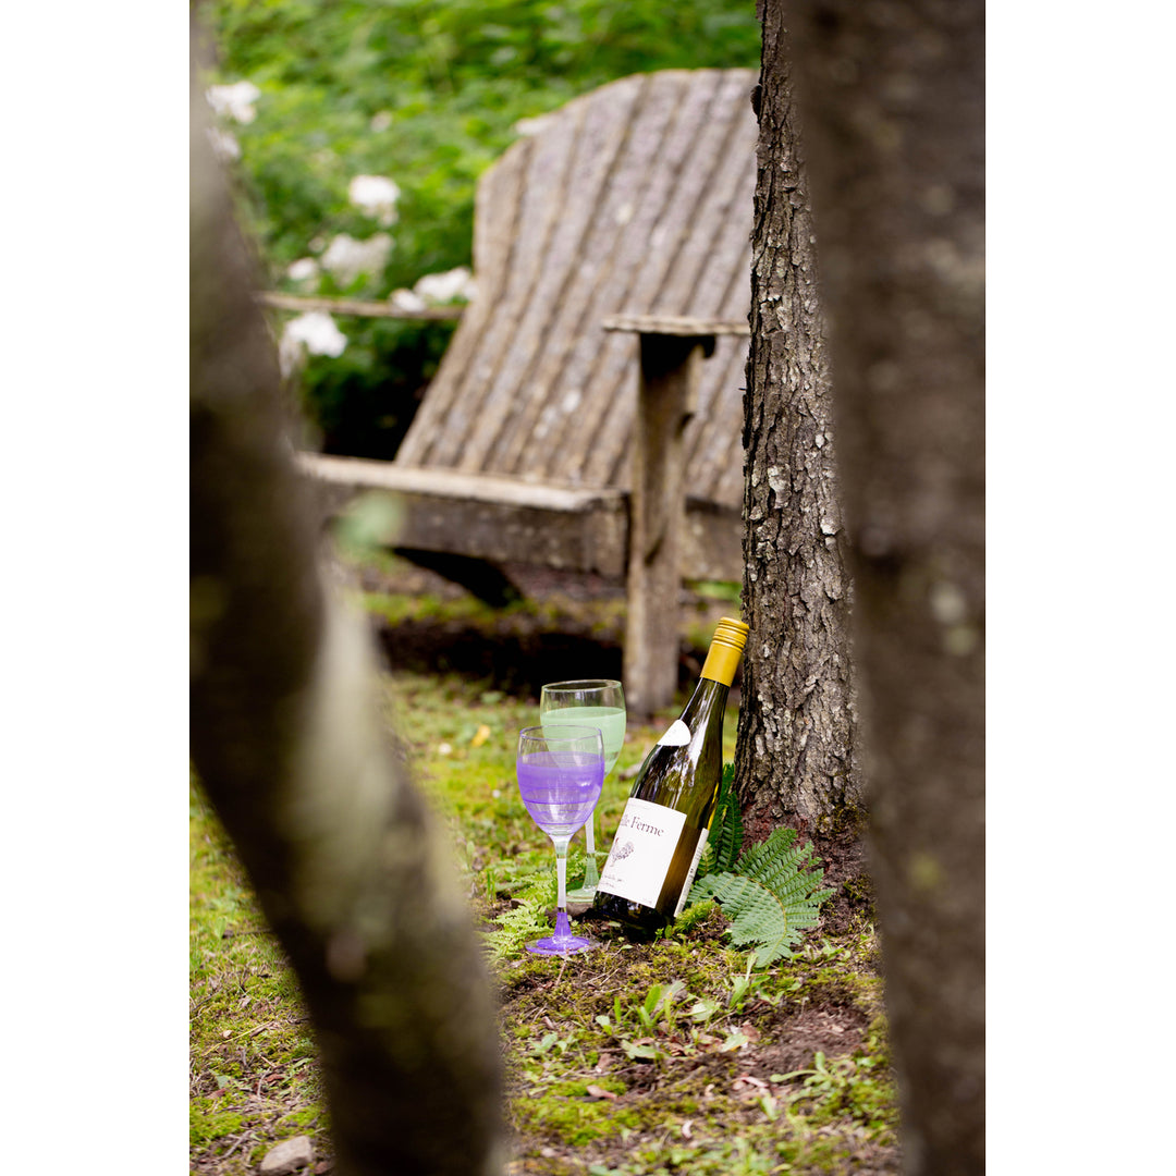
[[[854,537],[906,1167],[974,1174],[984,1164],[984,9],[789,7]]]

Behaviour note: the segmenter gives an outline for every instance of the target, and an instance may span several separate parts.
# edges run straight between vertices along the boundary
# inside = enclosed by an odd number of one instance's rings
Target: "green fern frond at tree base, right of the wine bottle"
[[[821,889],[824,871],[809,869],[811,846],[796,846],[794,829],[774,829],[736,863],[700,877],[690,902],[714,898],[731,921],[727,929],[737,947],[756,947],[756,967],[791,955],[801,933],[816,924],[821,903],[833,890]]]

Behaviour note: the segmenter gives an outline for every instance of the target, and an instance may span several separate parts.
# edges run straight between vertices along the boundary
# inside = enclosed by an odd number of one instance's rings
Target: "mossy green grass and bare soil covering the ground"
[[[548,926],[554,854],[519,800],[513,756],[536,700],[456,674],[397,673],[382,689],[485,928],[503,1011],[512,1174],[897,1171],[866,920],[840,935],[817,930],[759,973],[713,906],[654,943],[610,938],[573,961],[532,957],[523,943]],[[630,723],[597,810],[603,848],[664,717]],[[727,759],[736,727],[733,708]],[[579,837],[573,886],[581,847]],[[329,1162],[298,985],[195,780],[189,918],[192,1171],[245,1176],[293,1135],[309,1135]]]

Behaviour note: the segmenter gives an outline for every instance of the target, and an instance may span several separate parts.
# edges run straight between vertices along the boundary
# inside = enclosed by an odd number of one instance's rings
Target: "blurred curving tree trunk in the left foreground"
[[[193,69],[192,755],[299,977],[340,1176],[501,1170],[492,989],[329,597]]]

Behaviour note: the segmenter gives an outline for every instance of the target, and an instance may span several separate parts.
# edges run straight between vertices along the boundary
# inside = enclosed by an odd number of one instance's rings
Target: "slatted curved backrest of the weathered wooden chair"
[[[397,461],[630,486],[636,347],[599,325],[617,312],[653,309],[666,282],[677,281],[668,278],[675,265],[679,274],[694,273],[699,296],[708,300],[706,314],[690,307],[691,316],[746,315],[750,198],[742,213],[731,207],[717,226],[700,215],[722,212],[711,193],[716,172],[729,185],[724,176],[746,171],[744,187],[754,185],[754,158],[737,162],[740,142],[754,141],[748,105],[754,82],[753,71],[624,79],[568,103],[547,131],[516,143],[483,176],[475,227],[479,298],[459,325]],[[597,149],[587,123],[575,120],[589,109],[615,112],[617,87],[622,99],[636,96],[628,121],[620,120],[621,141],[606,139]],[[548,139],[560,140],[564,151]],[[544,201],[559,203],[561,192],[566,207],[554,219],[544,216]],[[701,245],[691,245],[694,239]],[[675,262],[682,249],[693,269]],[[536,278],[536,266],[550,266],[550,275]],[[733,286],[739,288],[734,310],[729,295],[716,293]],[[688,427],[688,453],[704,455],[691,476],[700,496],[721,493],[715,479],[742,460],[740,400],[730,401],[724,381],[726,373],[704,366],[700,413]],[[724,419],[711,422],[716,414]],[[711,453],[711,433],[726,437],[726,454]],[[723,501],[735,505],[741,496],[728,490]]]

